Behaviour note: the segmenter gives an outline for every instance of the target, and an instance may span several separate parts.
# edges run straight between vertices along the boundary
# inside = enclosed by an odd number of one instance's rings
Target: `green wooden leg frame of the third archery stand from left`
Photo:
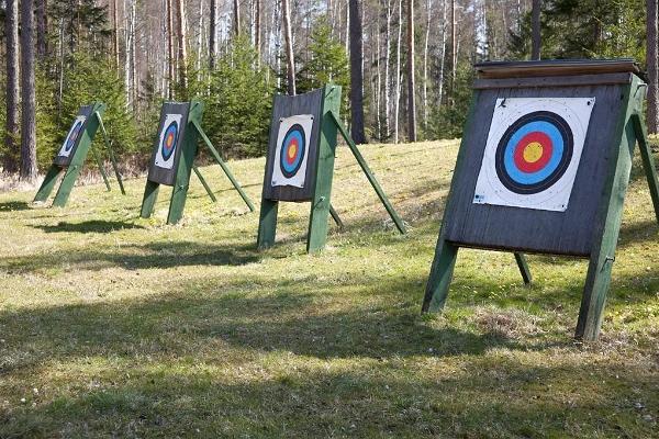
[[[334,178],[334,157],[336,155],[336,137],[340,133],[355,159],[359,164],[361,170],[366,175],[369,183],[378,194],[378,198],[384,205],[387,212],[394,222],[400,233],[406,233],[405,226],[401,217],[398,215],[389,199],[382,191],[382,188],[378,183],[372,171],[366,164],[366,160],[361,156],[361,153],[353,142],[353,138],[345,130],[340,120],[338,119],[340,108],[340,87],[328,85],[322,90],[322,99],[320,104],[320,111],[317,116],[320,120],[320,135],[317,144],[317,154],[315,155],[315,161],[309,164],[311,177],[312,177],[312,190],[310,200],[305,199],[305,192],[300,191],[300,196],[290,199],[284,196],[282,199],[277,198],[278,195],[272,194],[270,189],[268,171],[269,167],[272,166],[271,159],[266,164],[266,172],[264,176],[264,192],[261,195],[261,211],[258,226],[257,247],[264,249],[275,244],[275,237],[277,233],[277,213],[280,201],[310,201],[311,213],[309,217],[309,233],[306,238],[306,251],[315,252],[320,251],[325,247],[327,241],[327,227],[328,216],[336,221],[339,227],[343,227],[343,222],[338,217],[338,214],[331,204],[332,195],[332,182]],[[317,90],[316,90],[317,92]],[[273,124],[270,128],[270,147],[272,147],[272,136],[276,136],[273,130],[276,125],[276,111],[277,111],[277,98],[272,109]],[[272,155],[270,155],[272,156]],[[309,176],[309,173],[308,173]]]

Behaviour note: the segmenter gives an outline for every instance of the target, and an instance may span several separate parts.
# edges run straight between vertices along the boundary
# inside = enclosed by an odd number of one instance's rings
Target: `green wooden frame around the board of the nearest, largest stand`
[[[536,68],[537,65],[533,67]],[[570,68],[572,67],[573,66],[570,66]],[[605,170],[606,175],[604,177],[603,190],[600,200],[594,200],[599,207],[595,213],[592,236],[588,237],[590,239],[589,243],[592,243],[592,245],[588,247],[588,251],[580,250],[573,255],[588,257],[590,260],[574,337],[584,340],[595,340],[597,338],[606,292],[611,281],[611,270],[613,261],[615,260],[615,248],[621,227],[624,198],[629,181],[632,158],[636,142],[639,144],[655,213],[657,215],[657,222],[659,223],[659,181],[657,179],[657,171],[647,142],[646,128],[641,116],[645,83],[633,72],[627,72],[622,74],[626,75],[626,79],[617,80],[614,82],[615,86],[613,86],[610,80],[611,72],[608,71],[611,64],[605,67],[606,68],[603,70],[603,76],[607,78],[605,81],[597,80],[597,78],[590,78],[592,81],[579,82],[579,77],[563,77],[561,82],[560,78],[552,77],[549,79],[533,78],[533,80],[527,78],[481,79],[479,80],[480,82],[477,82],[477,85],[480,85],[481,87],[474,89],[474,97],[469,110],[469,116],[465,127],[466,135],[462,138],[462,144],[458,153],[456,170],[451,181],[439,238],[435,250],[435,258],[426,285],[422,307],[423,312],[436,312],[444,307],[453,278],[458,249],[460,247],[477,247],[490,250],[520,249],[510,248],[505,245],[484,244],[488,239],[492,243],[491,237],[484,238],[481,244],[465,244],[449,238],[448,229],[456,221],[455,216],[458,212],[458,205],[456,204],[458,202],[458,196],[456,196],[456,192],[462,190],[462,188],[458,189],[458,181],[460,181],[461,176],[467,172],[465,167],[468,144],[467,133],[474,130],[474,104],[479,100],[480,93],[484,92],[485,89],[495,89],[498,87],[501,89],[529,87],[532,90],[535,90],[535,92],[539,92],[538,90],[540,90],[541,87],[552,87],[559,83],[569,87],[587,87],[587,90],[589,90],[588,92],[591,92],[590,90],[593,90],[593,87],[602,87],[604,82],[606,82],[610,87],[619,87],[621,93],[617,92],[617,88],[610,90],[617,97],[616,99],[619,99],[619,115],[617,120],[614,121],[614,126],[611,127],[612,131],[607,140],[611,142],[610,146],[607,146],[611,149],[605,149],[605,151],[610,151],[605,154],[610,154],[611,159],[608,161],[605,160],[608,169]],[[619,66],[616,65],[616,68],[618,67]],[[592,74],[593,68],[593,66],[589,65],[589,74]],[[619,72],[615,75],[616,79],[621,79],[617,77],[621,75]],[[522,85],[518,85],[520,82],[522,82]],[[550,83],[550,86],[548,86],[548,83]],[[482,87],[483,85],[487,85],[488,87]],[[482,123],[482,121],[479,122]],[[597,123],[606,124],[607,121],[597,121]],[[532,248],[534,252],[569,255],[569,250],[566,250],[565,252],[556,251],[556,249],[552,251],[543,251],[543,244],[541,241],[538,243]]]

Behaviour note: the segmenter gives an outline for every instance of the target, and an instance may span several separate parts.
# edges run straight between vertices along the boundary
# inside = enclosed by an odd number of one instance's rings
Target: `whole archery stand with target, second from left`
[[[209,137],[201,127],[201,119],[203,114],[203,103],[200,101],[190,102],[166,102],[163,104],[160,113],[160,124],[158,128],[158,137],[156,138],[154,153],[152,156],[144,199],[142,201],[141,216],[148,218],[158,198],[158,189],[160,184],[174,187],[169,203],[169,213],[167,215],[167,224],[176,224],[183,215],[188,189],[190,185],[191,171],[194,171],[201,184],[213,202],[217,199],[211,191],[211,188],[203,179],[201,172],[194,165],[194,157],[198,153],[199,137],[209,148],[213,158],[217,161],[233,187],[238,191],[243,201],[254,212],[255,207],[245,193],[241,184],[234,178],[233,173],[226,166],[226,162],[220,156]],[[174,136],[174,151],[168,160],[163,160],[164,157],[159,153],[163,147],[163,142],[166,131],[171,124],[177,124],[176,135]],[[167,124],[167,126],[166,126]]]

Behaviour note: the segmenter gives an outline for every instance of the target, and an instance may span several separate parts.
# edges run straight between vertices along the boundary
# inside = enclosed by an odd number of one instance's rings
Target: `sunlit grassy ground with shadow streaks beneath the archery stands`
[[[0,438],[659,437],[659,227],[638,164],[601,340],[572,341],[587,261],[461,250],[443,315],[420,314],[456,142],[367,146],[411,226],[399,235],[348,150],[346,228],[304,252],[309,204],[278,244],[217,166],[185,218],[169,191],[76,188],[67,209],[0,195]],[[264,160],[230,164],[260,195]]]

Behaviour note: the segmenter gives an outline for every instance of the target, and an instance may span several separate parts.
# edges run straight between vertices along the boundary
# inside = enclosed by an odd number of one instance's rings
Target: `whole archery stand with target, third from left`
[[[339,227],[343,227],[343,222],[338,213],[330,202],[337,133],[340,133],[348,144],[359,167],[378,194],[380,202],[384,205],[399,232],[401,234],[406,233],[403,221],[389,202],[357,145],[355,145],[355,142],[338,119],[340,91],[339,86],[327,85],[322,89],[316,89],[304,94],[275,97],[258,226],[257,246],[259,249],[265,249],[275,244],[277,213],[280,201],[311,203],[309,234],[306,237],[308,252],[319,251],[325,247],[330,215]],[[279,166],[277,158],[282,159],[278,150],[283,154],[282,145],[279,142],[280,135],[278,134],[280,134],[279,132],[283,124],[289,123],[289,121],[300,122],[298,124],[300,127],[306,124],[298,134],[298,140],[305,144],[302,148],[304,151],[300,157],[303,157],[306,166],[305,169],[301,167],[297,171],[297,175],[290,179],[287,180],[283,178],[283,181],[277,183],[273,182],[273,179],[281,179],[281,176],[278,176],[280,172],[276,169]],[[288,184],[294,183],[295,179],[303,179],[303,184],[299,187]]]

